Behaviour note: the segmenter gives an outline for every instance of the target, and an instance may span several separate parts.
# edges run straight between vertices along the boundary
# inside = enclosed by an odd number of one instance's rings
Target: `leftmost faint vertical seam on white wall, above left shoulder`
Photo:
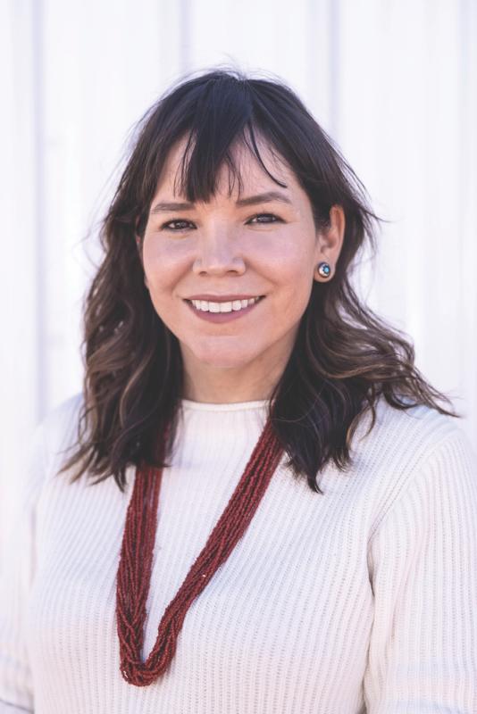
[[[31,0],[31,68],[33,94],[33,146],[35,156],[34,201],[36,216],[35,230],[35,298],[36,316],[36,389],[35,412],[39,421],[46,412],[47,378],[46,369],[46,238],[45,238],[45,132],[43,112],[43,0]]]

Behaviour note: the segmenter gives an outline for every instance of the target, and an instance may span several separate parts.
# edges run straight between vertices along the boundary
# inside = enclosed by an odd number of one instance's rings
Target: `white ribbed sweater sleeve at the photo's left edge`
[[[45,473],[43,428],[29,447],[21,498],[0,565],[0,714],[33,711],[25,618],[35,570],[35,506]]]

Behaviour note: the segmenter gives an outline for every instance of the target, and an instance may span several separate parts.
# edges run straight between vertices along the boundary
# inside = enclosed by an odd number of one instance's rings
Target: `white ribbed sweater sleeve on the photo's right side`
[[[368,714],[477,712],[477,458],[464,432],[416,469],[369,544]]]

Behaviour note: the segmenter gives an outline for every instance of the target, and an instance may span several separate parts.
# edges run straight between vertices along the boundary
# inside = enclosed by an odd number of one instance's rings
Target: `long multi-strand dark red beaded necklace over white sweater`
[[[136,469],[122,537],[116,587],[121,675],[131,685],[152,684],[171,664],[188,608],[245,533],[282,452],[271,421],[267,419],[264,431],[221,518],[177,594],[165,609],[155,645],[145,662],[141,661],[141,650],[163,470],[146,464]]]

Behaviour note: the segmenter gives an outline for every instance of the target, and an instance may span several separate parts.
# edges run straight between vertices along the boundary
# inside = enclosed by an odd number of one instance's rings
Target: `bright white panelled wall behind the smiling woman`
[[[81,298],[134,122],[190,69],[289,82],[392,222],[360,274],[477,442],[473,0],[2,0],[0,485],[80,388]],[[1,515],[1,514],[0,514]]]

